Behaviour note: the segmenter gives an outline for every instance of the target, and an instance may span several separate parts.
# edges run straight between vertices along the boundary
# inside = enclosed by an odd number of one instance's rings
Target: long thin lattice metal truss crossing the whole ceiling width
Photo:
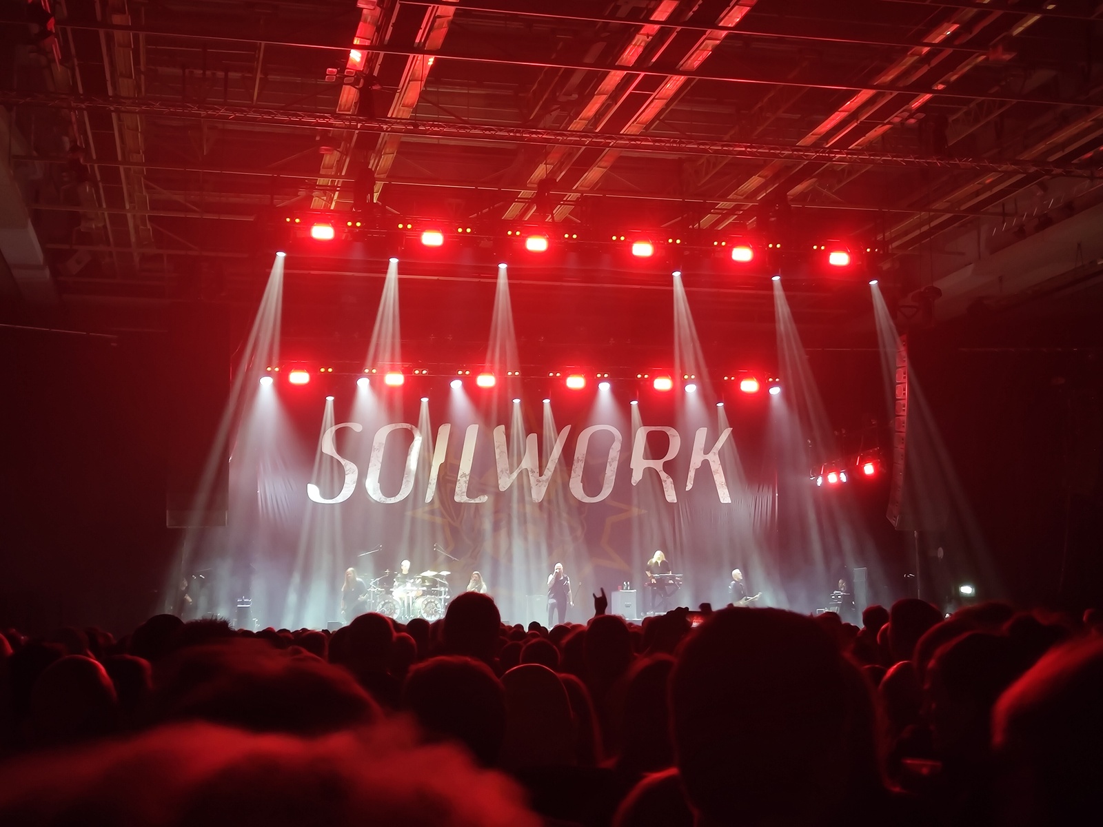
[[[397,118],[363,118],[356,115],[318,112],[226,104],[151,100],[84,95],[47,95],[3,92],[0,103],[11,106],[51,106],[64,109],[106,109],[113,112],[159,115],[179,118],[202,118],[227,123],[264,123],[309,129],[346,129],[361,132],[396,135],[403,138],[445,139],[457,141],[499,141],[508,143],[561,144],[582,148],[618,149],[628,152],[652,152],[667,155],[724,155],[765,161],[801,163],[864,164],[871,167],[919,168],[934,170],[968,170],[1013,174],[1089,175],[1091,168],[1052,164],[1029,160],[993,160],[970,158],[936,158],[899,154],[871,150],[835,149],[831,147],[796,147],[742,141],[716,141],[651,135],[613,135],[575,132],[529,127],[485,126],[437,120]]]

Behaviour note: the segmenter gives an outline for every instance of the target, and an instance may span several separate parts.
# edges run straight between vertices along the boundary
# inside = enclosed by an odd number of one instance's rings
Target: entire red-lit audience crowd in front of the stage
[[[0,630],[0,825],[1079,825],[1103,624],[900,600],[642,625]],[[698,621],[700,621],[698,623]]]

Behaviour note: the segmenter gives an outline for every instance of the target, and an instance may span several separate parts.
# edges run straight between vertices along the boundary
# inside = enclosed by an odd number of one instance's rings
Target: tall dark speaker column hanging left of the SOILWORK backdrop
[[[231,380],[229,321],[213,302],[175,301],[165,364],[165,524],[225,526],[228,434],[219,425]]]

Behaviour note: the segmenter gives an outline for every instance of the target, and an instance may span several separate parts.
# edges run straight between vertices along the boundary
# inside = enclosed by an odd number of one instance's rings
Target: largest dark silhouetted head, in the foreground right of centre
[[[811,617],[775,609],[727,609],[686,637],[671,676],[672,732],[708,824],[838,817],[872,743],[857,731],[871,715],[854,672]]]

